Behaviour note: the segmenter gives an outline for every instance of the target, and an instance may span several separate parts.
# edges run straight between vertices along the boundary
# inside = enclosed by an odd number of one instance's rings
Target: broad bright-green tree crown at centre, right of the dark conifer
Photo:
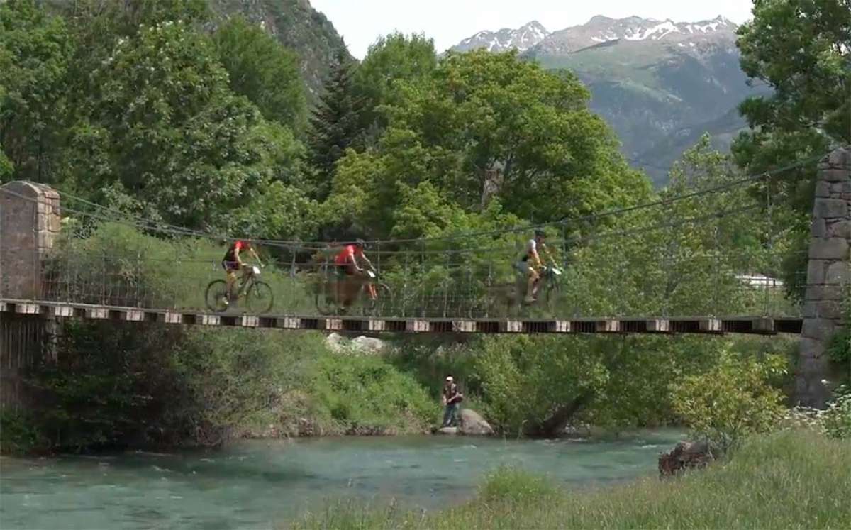
[[[498,198],[506,212],[534,222],[647,197],[648,182],[626,166],[569,74],[479,51],[447,55],[429,75],[392,86],[380,106],[386,130],[373,150],[346,154],[329,199],[336,204],[359,188],[354,216],[378,237],[394,232],[402,184],[429,181],[467,212]]]

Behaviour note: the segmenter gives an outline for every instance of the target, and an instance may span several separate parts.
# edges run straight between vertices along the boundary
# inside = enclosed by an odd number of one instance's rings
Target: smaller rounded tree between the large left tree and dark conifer
[[[227,20],[213,40],[235,93],[246,96],[264,118],[295,131],[304,128],[305,85],[293,52],[242,16]]]

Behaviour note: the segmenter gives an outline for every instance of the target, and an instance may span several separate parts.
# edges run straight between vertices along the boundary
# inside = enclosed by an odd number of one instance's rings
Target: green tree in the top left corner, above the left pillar
[[[65,21],[33,0],[0,5],[0,174],[51,179],[73,49]]]

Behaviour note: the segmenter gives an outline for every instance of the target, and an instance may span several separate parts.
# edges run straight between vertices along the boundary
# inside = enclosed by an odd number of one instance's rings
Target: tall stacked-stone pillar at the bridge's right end
[[[831,367],[826,348],[842,326],[842,299],[851,271],[851,151],[837,149],[819,163],[809,243],[807,292],[796,372],[796,400],[824,407]]]

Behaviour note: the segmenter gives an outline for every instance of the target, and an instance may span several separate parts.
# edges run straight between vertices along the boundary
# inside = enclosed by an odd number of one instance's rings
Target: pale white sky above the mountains
[[[538,20],[553,32],[585,24],[595,14],[696,22],[719,14],[741,24],[751,18],[751,0],[311,0],[363,59],[376,38],[400,31],[425,33],[441,52],[482,30],[517,28]]]

